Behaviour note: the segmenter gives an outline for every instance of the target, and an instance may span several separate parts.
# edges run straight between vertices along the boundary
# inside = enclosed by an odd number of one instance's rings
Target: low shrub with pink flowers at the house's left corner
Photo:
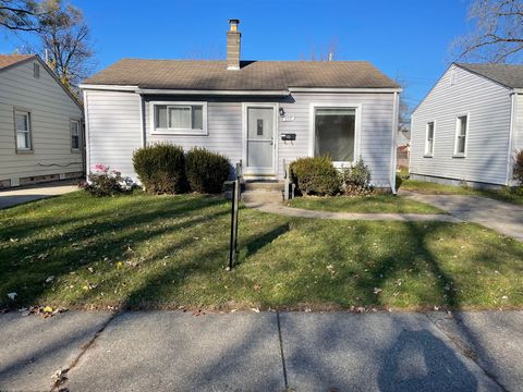
[[[111,170],[101,163],[95,164],[93,169],[94,173],[88,175],[88,182],[80,184],[81,188],[93,196],[114,196],[132,189],[132,187],[126,186],[122,173],[118,170]]]

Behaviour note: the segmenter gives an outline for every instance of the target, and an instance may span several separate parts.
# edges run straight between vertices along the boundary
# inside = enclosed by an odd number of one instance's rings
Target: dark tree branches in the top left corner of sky
[[[12,32],[38,32],[41,10],[34,0],[0,0],[0,26]]]

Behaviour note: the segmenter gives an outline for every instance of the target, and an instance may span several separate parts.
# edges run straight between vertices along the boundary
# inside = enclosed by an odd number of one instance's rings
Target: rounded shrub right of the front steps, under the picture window
[[[336,195],[341,176],[330,157],[299,158],[291,163],[291,177],[303,195]]]

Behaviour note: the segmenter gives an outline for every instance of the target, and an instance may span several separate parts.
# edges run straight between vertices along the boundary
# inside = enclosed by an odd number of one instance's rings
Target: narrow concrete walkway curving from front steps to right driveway
[[[403,222],[417,221],[437,221],[459,223],[462,220],[451,217],[449,215],[437,213],[354,213],[354,212],[328,212],[318,210],[306,210],[301,208],[292,208],[276,204],[245,204],[247,208],[255,208],[263,212],[278,213],[285,217],[295,218],[316,218],[316,219],[340,219],[340,220],[389,220]]]

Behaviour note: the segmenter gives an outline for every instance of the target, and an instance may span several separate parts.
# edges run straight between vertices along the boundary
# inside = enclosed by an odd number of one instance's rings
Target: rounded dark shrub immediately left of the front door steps
[[[229,172],[229,162],[220,154],[195,147],[185,155],[185,175],[193,192],[220,193]]]

